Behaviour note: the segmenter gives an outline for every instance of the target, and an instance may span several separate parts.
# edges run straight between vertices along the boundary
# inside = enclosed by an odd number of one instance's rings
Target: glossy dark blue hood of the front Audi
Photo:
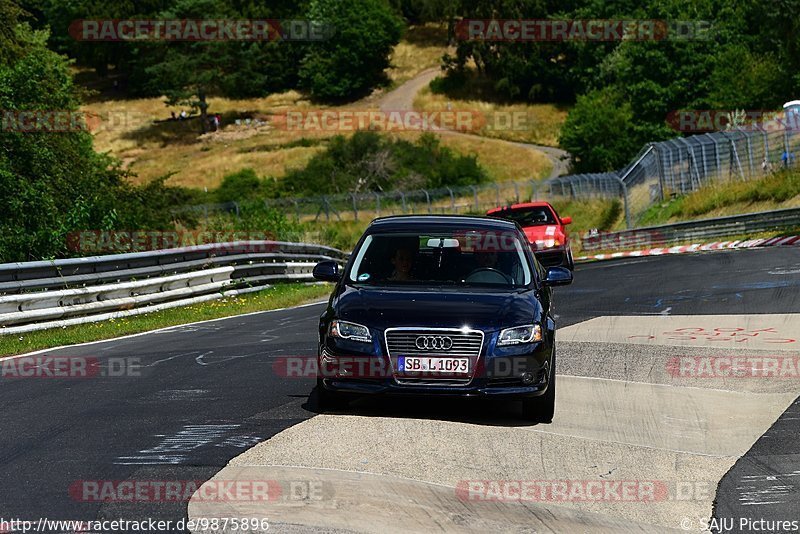
[[[372,328],[396,326],[481,330],[538,321],[541,305],[534,291],[452,288],[365,288],[345,286],[334,303],[340,319]]]

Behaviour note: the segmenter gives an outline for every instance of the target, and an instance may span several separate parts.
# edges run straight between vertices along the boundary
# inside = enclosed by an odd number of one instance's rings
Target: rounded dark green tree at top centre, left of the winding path
[[[303,58],[300,83],[313,98],[352,100],[387,81],[384,71],[403,25],[386,0],[312,0],[308,17],[335,32]]]

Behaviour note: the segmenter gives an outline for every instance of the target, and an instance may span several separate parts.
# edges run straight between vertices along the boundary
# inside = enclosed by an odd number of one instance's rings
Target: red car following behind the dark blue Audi
[[[574,268],[566,229],[572,218],[559,217],[549,202],[512,204],[491,209],[486,215],[519,223],[536,259],[544,267]]]

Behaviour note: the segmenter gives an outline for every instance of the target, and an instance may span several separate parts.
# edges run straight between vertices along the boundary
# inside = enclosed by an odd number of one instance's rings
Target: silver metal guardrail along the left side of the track
[[[313,280],[322,245],[237,241],[180,249],[0,264],[0,334],[125,317]]]

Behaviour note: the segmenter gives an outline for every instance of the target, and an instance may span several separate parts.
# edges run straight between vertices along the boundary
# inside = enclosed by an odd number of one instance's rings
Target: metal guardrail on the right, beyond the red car
[[[584,236],[583,250],[624,250],[651,245],[704,241],[800,227],[800,208],[649,226]]]

